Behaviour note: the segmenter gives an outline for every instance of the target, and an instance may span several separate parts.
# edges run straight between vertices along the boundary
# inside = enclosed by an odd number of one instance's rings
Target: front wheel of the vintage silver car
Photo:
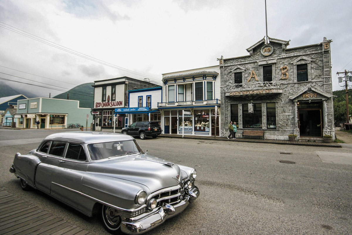
[[[102,206],[101,218],[105,229],[111,234],[122,234],[121,232],[121,217],[118,211],[110,206]]]

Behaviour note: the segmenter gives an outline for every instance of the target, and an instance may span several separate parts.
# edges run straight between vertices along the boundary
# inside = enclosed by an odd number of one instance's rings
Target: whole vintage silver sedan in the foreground
[[[128,135],[64,132],[17,153],[10,172],[23,190],[43,191],[112,234],[142,234],[199,197],[196,170],[147,155]]]

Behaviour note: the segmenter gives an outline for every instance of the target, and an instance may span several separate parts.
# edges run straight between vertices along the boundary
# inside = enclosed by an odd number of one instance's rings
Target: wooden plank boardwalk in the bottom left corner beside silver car
[[[94,235],[0,188],[0,235]]]

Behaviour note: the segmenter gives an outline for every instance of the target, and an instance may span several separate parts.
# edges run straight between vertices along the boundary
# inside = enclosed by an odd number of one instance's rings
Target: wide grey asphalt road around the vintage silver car
[[[36,148],[52,132],[0,129],[0,187],[92,233],[108,234],[99,219],[39,191],[22,191],[8,171],[16,152]],[[196,168],[201,190],[182,214],[147,235],[352,234],[352,165],[319,157],[323,152],[348,157],[350,148],[180,138],[137,142],[149,155]]]

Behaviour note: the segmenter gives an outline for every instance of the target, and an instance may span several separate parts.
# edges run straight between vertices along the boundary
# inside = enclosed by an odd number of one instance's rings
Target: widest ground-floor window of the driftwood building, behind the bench
[[[243,127],[262,128],[262,104],[243,104]]]

